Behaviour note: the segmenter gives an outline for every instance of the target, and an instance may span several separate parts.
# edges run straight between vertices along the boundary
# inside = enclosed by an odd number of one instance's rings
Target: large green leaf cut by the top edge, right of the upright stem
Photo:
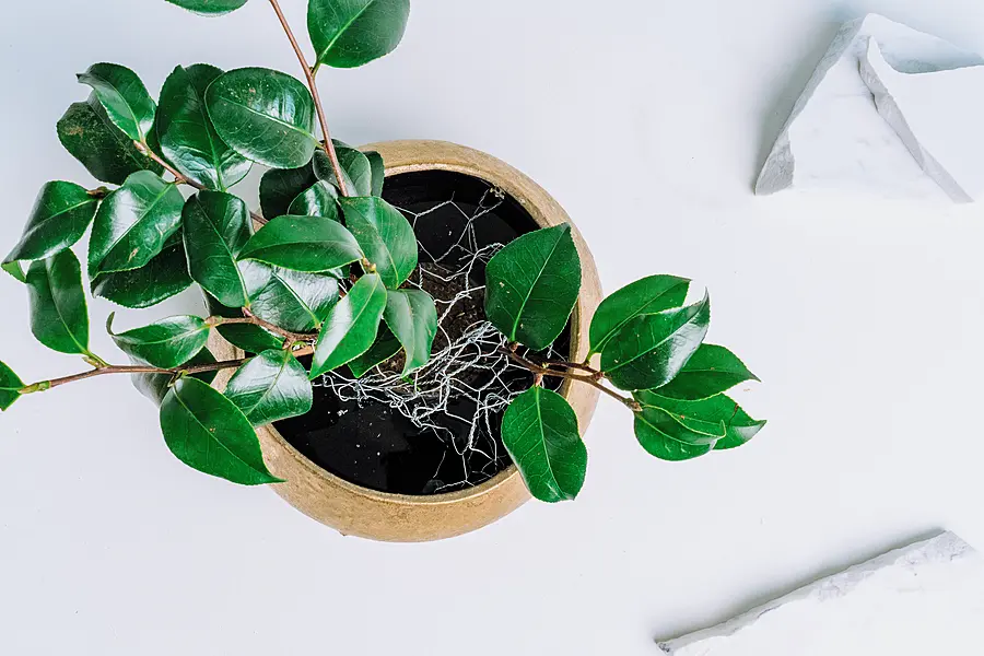
[[[391,52],[409,16],[410,0],[311,0],[307,32],[318,63],[354,68]]]

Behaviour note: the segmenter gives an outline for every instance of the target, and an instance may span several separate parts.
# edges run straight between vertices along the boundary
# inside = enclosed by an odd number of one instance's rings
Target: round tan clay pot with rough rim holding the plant
[[[383,155],[387,176],[427,169],[466,174],[511,195],[542,227],[571,223],[566,212],[539,185],[483,152],[443,141],[388,141],[368,144],[364,150],[375,150]],[[572,318],[571,355],[583,360],[588,351],[588,326],[601,301],[601,286],[595,260],[576,227],[574,242],[581,255],[583,279]],[[218,332],[213,332],[210,348],[220,360],[242,356],[242,351]],[[230,375],[225,372],[220,376],[216,386],[223,386]],[[577,413],[584,434],[594,414],[598,391],[588,385],[569,382],[560,391]],[[529,499],[515,466],[480,485],[447,494],[411,496],[377,492],[316,466],[272,425],[257,429],[257,434],[270,471],[286,481],[271,485],[273,491],[305,515],[343,535],[391,542],[440,540],[491,524]]]

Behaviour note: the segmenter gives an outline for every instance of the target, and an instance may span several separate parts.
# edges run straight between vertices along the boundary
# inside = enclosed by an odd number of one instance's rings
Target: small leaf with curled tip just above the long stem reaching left
[[[200,317],[178,316],[126,332],[113,332],[113,316],[106,330],[126,353],[161,368],[174,368],[188,362],[209,341],[209,326]]]

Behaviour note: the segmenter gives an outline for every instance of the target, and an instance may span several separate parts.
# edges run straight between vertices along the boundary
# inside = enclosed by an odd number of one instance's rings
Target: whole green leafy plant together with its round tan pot
[[[210,15],[246,2],[168,1]],[[574,499],[600,394],[664,460],[764,425],[725,396],[755,377],[704,342],[710,298],[688,304],[690,281],[652,276],[602,300],[567,215],[511,166],[444,142],[331,139],[316,75],[394,50],[409,0],[311,0],[311,60],[269,2],[306,84],[179,66],[154,102],[121,66],[79,75],[91,95],[58,136],[112,187],[46,184],[2,267],[28,290],[37,340],[89,368],[25,383],[0,363],[0,409],[132,376],[187,465],[385,540],[472,530],[530,494]],[[254,164],[261,213],[230,191]],[[72,247],[90,225],[83,267]],[[144,308],[195,284],[201,316],[109,316],[128,364],[90,349],[86,286]]]

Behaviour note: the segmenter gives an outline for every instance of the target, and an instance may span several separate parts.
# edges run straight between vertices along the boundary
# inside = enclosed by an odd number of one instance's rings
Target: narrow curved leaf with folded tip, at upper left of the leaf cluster
[[[117,63],[94,63],[78,77],[92,86],[113,125],[133,141],[147,141],[156,107],[137,73]]]

